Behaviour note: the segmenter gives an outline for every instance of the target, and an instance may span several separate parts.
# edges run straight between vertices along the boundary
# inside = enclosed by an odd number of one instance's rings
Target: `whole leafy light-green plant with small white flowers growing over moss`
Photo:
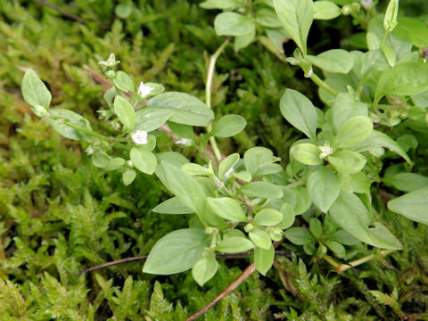
[[[89,145],[86,150],[90,148],[94,165],[120,171],[126,185],[137,172],[155,174],[173,196],[153,211],[189,217],[186,228],[163,236],[153,246],[145,273],[169,275],[192,269],[194,280],[203,285],[217,272],[217,252],[251,251],[257,270],[266,275],[275,258],[273,242],[283,237],[333,265],[328,252],[351,259],[356,252],[348,249],[356,245],[399,250],[399,240],[375,215],[370,187],[379,181],[409,192],[389,202],[390,210],[428,224],[426,177],[407,177],[405,187],[394,179],[406,176],[404,169],[413,165],[407,155],[409,144],[396,140],[400,133],[428,134],[424,120],[428,65],[417,51],[426,44],[408,33],[415,21],[405,21],[400,28],[398,1],[391,1],[384,17],[376,16],[367,2],[343,3],[342,8],[312,0],[274,0],[248,7],[240,2],[225,6],[219,0],[202,3],[224,10],[214,27],[218,36],[235,37],[236,50],[250,45],[262,30],[265,36],[257,39],[263,45],[284,63],[299,66],[319,86],[324,106],[316,107],[293,89],[286,89],[280,99],[284,119],[302,135],[292,144],[290,161],[282,165],[263,146],[224,157],[218,150],[218,139],[235,136],[246,126],[239,115],[216,119],[210,108],[215,62],[228,38],[207,68],[205,102],[185,93],[164,92],[160,84],[141,82],[136,88],[127,73],[115,70],[119,62],[113,54],[100,62],[114,85],[103,95],[107,109],[101,112],[103,119],[111,119],[113,134],[95,132],[74,111],[50,109],[52,97],[45,84],[33,70],[26,72],[22,94],[37,116],[62,136]],[[342,13],[366,27],[367,51],[311,54],[307,38],[313,20]],[[296,50],[292,57],[284,57],[279,44],[289,38]],[[165,124],[178,137],[178,152],[156,146]],[[195,136],[194,127],[205,132]],[[204,161],[187,159],[181,147],[197,152]],[[382,177],[383,164],[388,166],[391,159],[401,167],[391,177]]]

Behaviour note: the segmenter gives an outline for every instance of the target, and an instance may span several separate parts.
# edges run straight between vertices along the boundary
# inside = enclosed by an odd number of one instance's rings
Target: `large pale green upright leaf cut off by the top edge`
[[[276,13],[284,29],[306,55],[306,42],[309,29],[314,20],[314,3],[312,0],[274,0]]]

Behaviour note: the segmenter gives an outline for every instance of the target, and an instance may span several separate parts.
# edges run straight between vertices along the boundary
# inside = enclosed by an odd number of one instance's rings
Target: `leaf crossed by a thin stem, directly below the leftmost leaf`
[[[78,125],[81,128],[86,128],[87,130],[92,131],[91,125],[87,119],[84,119],[78,113],[74,111],[64,110],[61,108],[52,109],[49,111],[51,115],[59,117],[61,119],[65,119],[66,121],[70,121],[71,123]],[[70,128],[67,124],[64,124],[63,121],[48,118],[47,121],[49,124],[62,136],[74,139],[74,140],[83,140],[87,143],[91,143],[93,138],[88,136],[86,133],[81,132],[75,128]]]

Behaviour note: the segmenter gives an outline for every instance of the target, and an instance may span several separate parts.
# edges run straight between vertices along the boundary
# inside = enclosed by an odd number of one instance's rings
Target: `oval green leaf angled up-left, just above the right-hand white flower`
[[[303,2],[306,0],[302,0]],[[317,110],[305,95],[293,89],[286,89],[279,106],[284,118],[292,126],[303,132],[313,142],[317,141]]]

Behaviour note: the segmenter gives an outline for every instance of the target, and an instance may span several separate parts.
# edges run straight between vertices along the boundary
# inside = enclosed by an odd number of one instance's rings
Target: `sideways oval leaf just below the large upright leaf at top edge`
[[[316,2],[316,4],[319,1]],[[320,53],[317,56],[308,54],[306,58],[309,62],[320,69],[328,72],[337,72],[346,74],[350,72],[354,66],[354,59],[350,52],[343,49],[332,49],[324,53]]]

